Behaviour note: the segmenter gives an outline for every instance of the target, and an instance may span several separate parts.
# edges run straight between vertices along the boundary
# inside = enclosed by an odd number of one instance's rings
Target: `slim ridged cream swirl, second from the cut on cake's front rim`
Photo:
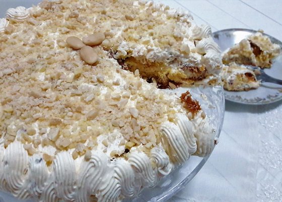
[[[182,132],[185,142],[188,146],[188,153],[194,154],[197,150],[196,138],[194,136],[194,127],[192,122],[183,114],[177,114],[177,125]]]

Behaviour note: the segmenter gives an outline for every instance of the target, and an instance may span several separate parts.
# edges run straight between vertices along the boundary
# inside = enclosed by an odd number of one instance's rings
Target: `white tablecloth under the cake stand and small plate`
[[[0,14],[38,1],[0,0]],[[281,0],[162,0],[190,11],[213,31],[263,29],[282,41]],[[4,17],[4,16],[0,16]],[[282,78],[280,78],[282,79]],[[282,102],[247,106],[226,102],[220,143],[199,173],[169,201],[282,201]]]

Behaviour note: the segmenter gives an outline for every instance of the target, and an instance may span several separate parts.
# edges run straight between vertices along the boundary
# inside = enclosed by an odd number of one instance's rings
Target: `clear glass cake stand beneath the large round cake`
[[[37,5],[39,0],[27,1],[7,1],[0,0],[2,6],[0,7],[0,18],[5,17],[5,13],[9,8],[16,8],[24,6],[26,8],[32,5]],[[189,90],[194,98],[199,100],[201,108],[205,111],[206,116],[209,118],[210,125],[215,129],[215,136],[219,137],[223,125],[225,99],[223,95],[222,86],[207,86],[197,88],[184,88],[180,87],[171,91],[180,95]],[[176,167],[168,176],[162,178],[159,184],[150,189],[144,189],[135,198],[127,198],[123,201],[129,202],[145,202],[145,201],[165,201],[172,197],[175,193],[180,191],[202,168],[209,156],[204,158],[191,156],[189,160]],[[1,171],[0,171],[1,172]],[[33,199],[25,200],[26,202],[34,202]],[[23,200],[13,197],[9,193],[0,191],[0,202],[23,202]]]

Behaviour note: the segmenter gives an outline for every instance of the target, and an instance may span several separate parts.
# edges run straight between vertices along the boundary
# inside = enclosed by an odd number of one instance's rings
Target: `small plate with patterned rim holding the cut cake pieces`
[[[225,29],[213,33],[214,40],[219,44],[221,51],[224,52],[227,48],[239,43],[242,39],[256,33],[250,29]],[[276,38],[266,35],[271,42],[280,45],[282,42]],[[265,73],[277,79],[282,79],[282,53],[273,60],[270,69],[264,69]],[[282,99],[282,86],[274,83],[261,83],[257,89],[249,91],[228,91],[224,90],[224,95],[227,100],[235,103],[248,105],[264,105],[277,102]]]

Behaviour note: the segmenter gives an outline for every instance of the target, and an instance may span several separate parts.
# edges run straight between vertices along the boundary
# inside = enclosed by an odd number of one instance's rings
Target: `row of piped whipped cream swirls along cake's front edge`
[[[177,124],[163,123],[161,133],[163,143],[151,149],[150,157],[137,147],[131,148],[127,161],[110,161],[100,149],[92,150],[89,160],[74,160],[70,151],[60,151],[49,168],[43,153],[28,156],[17,141],[6,149],[0,144],[0,168],[4,171],[0,172],[0,187],[23,199],[87,202],[90,195],[96,195],[99,201],[118,201],[154,187],[174,165],[187,161],[193,153],[208,155],[215,145],[213,131],[200,116],[191,122],[177,114]]]

